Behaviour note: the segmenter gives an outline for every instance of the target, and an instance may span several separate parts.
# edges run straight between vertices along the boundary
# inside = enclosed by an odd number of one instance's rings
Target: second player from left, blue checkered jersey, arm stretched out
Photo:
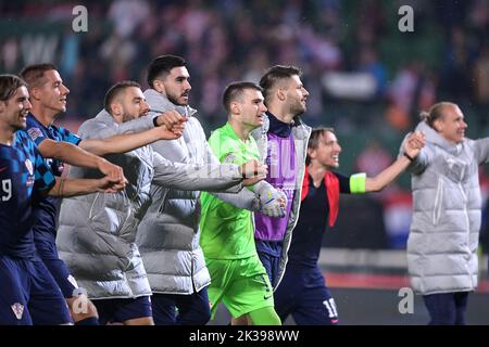
[[[66,112],[70,89],[63,83],[53,64],[35,64],[24,67],[21,73],[28,85],[33,108],[27,115],[25,131],[36,143],[46,164],[57,177],[61,177],[64,163],[98,169],[102,174],[124,179],[122,168],[99,155],[124,153],[160,139],[168,139],[173,133],[165,127],[154,127],[151,119],[139,119],[142,127],[153,128],[138,133],[124,133],[135,129],[135,125],[126,123],[118,128],[117,134],[108,139],[85,139],[70,130],[54,126],[53,123]],[[159,116],[160,124],[178,115]],[[142,120],[142,121],[141,121]],[[138,120],[137,120],[138,121]],[[174,120],[176,124],[177,121]],[[172,123],[166,123],[172,126]],[[89,153],[89,152],[91,153]],[[97,155],[92,154],[96,153]],[[57,215],[61,201],[46,196],[34,208],[36,222],[33,226],[34,241],[38,255],[57,280],[68,304],[72,317],[77,325],[95,325],[98,323],[93,304],[78,291],[76,280],[70,274],[66,265],[59,258],[55,247]]]

